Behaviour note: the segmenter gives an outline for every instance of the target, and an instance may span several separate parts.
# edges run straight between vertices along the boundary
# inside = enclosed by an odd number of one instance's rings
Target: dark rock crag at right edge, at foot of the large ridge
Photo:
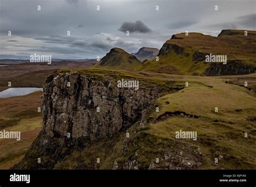
[[[205,70],[208,76],[218,75],[243,75],[255,73],[256,67],[242,63],[240,60],[228,60],[227,64],[211,63],[210,67]]]

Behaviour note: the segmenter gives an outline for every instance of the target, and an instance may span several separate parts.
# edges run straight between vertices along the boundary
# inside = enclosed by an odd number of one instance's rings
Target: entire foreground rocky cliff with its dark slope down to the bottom
[[[74,147],[112,138],[163,94],[157,87],[118,88],[110,76],[53,75],[43,93],[43,128],[15,168],[52,169]],[[42,162],[37,163],[38,158]]]

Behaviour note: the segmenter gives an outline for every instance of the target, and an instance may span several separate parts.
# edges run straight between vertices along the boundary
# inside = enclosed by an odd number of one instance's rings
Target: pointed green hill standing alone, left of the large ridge
[[[102,69],[122,69],[122,70],[133,70],[137,68],[141,62],[137,59],[136,56],[133,56],[123,49],[112,48],[109,53],[106,54],[96,63],[93,68],[102,68]]]

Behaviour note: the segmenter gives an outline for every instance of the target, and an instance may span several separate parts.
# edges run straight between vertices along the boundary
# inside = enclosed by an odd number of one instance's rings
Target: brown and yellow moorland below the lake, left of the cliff
[[[0,169],[9,169],[21,161],[26,150],[36,138],[42,127],[42,91],[29,95],[0,98],[0,131],[21,131],[21,141],[0,139]]]

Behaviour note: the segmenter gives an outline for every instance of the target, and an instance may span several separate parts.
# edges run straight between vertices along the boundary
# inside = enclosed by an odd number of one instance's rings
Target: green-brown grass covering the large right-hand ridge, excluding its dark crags
[[[221,35],[212,37],[201,33],[175,34],[179,39],[170,39],[166,44],[177,45],[184,48],[184,52],[177,54],[171,50],[168,54],[159,55],[159,61],[152,60],[143,63],[137,68],[141,71],[151,71],[167,74],[184,74],[203,76],[205,69],[210,67],[210,63],[204,63],[204,60],[193,60],[195,52],[212,53],[216,55],[227,55],[227,60],[242,60],[244,64],[256,66],[256,32],[248,31],[247,37],[244,31],[230,31],[236,35]]]

